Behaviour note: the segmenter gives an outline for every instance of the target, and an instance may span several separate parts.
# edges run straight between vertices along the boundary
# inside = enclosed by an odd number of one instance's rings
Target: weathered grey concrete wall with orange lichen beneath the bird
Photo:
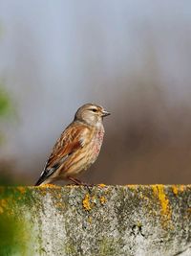
[[[1,187],[0,228],[0,255],[190,256],[191,186]]]

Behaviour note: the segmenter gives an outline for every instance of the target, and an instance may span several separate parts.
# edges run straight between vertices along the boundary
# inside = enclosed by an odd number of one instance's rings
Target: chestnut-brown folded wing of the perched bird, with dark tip
[[[40,185],[50,175],[53,175],[74,151],[83,148],[88,132],[89,128],[79,123],[72,124],[62,132],[53,147],[53,151],[46,163],[44,171],[35,184],[36,186]]]

